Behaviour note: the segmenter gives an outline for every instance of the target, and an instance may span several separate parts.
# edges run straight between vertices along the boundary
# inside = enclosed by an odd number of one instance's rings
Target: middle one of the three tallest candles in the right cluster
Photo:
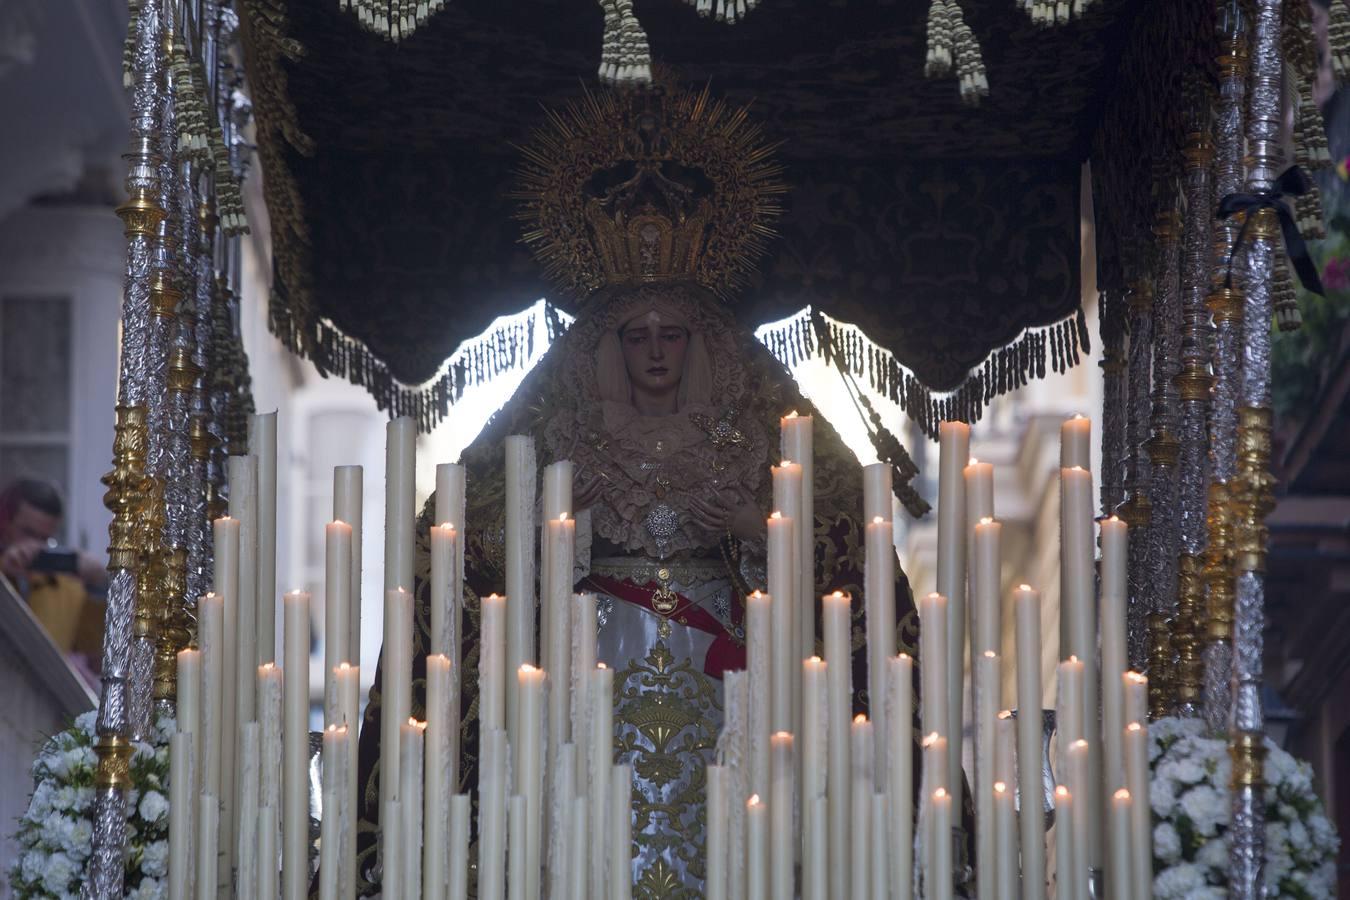
[[[965,478],[963,471],[971,459],[971,426],[965,422],[938,425],[938,505],[937,505],[937,592],[946,598],[946,653],[950,667],[946,685],[946,722],[938,730],[948,738],[949,793],[961,803],[961,729],[964,679],[959,675],[965,660],[965,556],[969,544],[969,525],[965,521]],[[922,621],[922,610],[919,611]],[[927,627],[927,625],[925,625]],[[923,663],[919,654],[919,663]],[[923,695],[932,696],[925,681]],[[929,730],[925,726],[925,730]]]

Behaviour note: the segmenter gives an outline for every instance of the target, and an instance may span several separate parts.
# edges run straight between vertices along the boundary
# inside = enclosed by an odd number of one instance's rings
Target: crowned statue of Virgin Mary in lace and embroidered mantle
[[[745,667],[744,598],[765,584],[770,466],[780,459],[779,420],[792,410],[815,414],[817,594],[861,598],[859,461],[736,317],[736,289],[770,235],[780,192],[759,131],[706,92],[587,96],[551,113],[526,148],[521,217],[576,318],[462,457],[459,789],[477,780],[478,598],[501,591],[505,578],[504,441],[528,434],[540,468],[574,466],[574,580],[597,596],[597,656],[614,669],[613,756],[634,772],[637,897],[702,893],[703,768],[722,723],[722,675]],[[417,533],[418,716],[432,510]],[[918,619],[899,579],[898,645],[915,654]],[[865,711],[861,603],[855,623],[853,704]],[[377,673],[360,737],[367,881],[379,696]],[[375,889],[366,884],[363,893]]]

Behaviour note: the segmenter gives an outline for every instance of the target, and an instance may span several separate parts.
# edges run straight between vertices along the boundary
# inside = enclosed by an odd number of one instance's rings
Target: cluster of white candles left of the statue
[[[282,596],[277,665],[275,604],[265,599],[270,590],[256,564],[274,534],[256,528],[259,470],[270,478],[262,493],[275,495],[275,425],[266,418],[270,432],[259,433],[273,440],[254,444],[259,457],[231,460],[231,515],[213,524],[215,590],[198,602],[197,648],[178,654],[170,900],[301,900],[309,891],[312,610],[308,592]],[[410,715],[414,600],[404,587],[413,583],[414,439],[410,420],[389,424],[379,881],[389,897],[459,900],[468,889],[471,804],[459,792],[464,561],[451,522],[463,521],[464,471],[436,470],[443,525],[431,529],[427,718],[418,721]],[[632,766],[613,762],[613,672],[595,660],[595,598],[572,592],[571,464],[555,463],[543,478],[541,668],[533,649],[533,443],[513,436],[506,456],[506,584],[524,602],[493,594],[479,609],[477,896],[516,900],[547,891],[628,900]],[[351,899],[358,888],[360,672],[351,660],[360,646],[360,467],[335,470],[323,610],[321,900]]]

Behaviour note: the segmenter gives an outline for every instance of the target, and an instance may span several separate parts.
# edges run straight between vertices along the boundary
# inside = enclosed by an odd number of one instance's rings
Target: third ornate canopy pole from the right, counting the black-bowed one
[[[1214,190],[1210,165],[1214,144],[1208,134],[1207,101],[1196,104],[1185,146],[1185,223],[1181,266],[1181,371],[1173,379],[1181,403],[1180,557],[1177,560],[1176,621],[1172,650],[1176,654],[1176,712],[1200,715],[1203,664],[1200,627],[1204,613],[1204,548],[1208,488],[1206,414],[1210,387],[1210,314],[1204,308],[1211,270],[1211,209]]]

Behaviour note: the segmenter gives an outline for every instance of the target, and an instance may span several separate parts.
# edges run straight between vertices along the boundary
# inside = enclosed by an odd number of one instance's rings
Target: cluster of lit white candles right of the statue
[[[783,421],[784,457],[790,443],[803,444],[791,436],[802,421],[809,429],[805,417]],[[1089,889],[1092,896],[1104,889],[1111,897],[1143,900],[1152,896],[1148,680],[1126,671],[1127,538],[1126,525],[1114,517],[1100,524],[1100,600],[1095,587],[1089,440],[1088,420],[1064,424],[1054,885],[1065,900],[1087,900]],[[707,768],[709,900],[950,897],[952,828],[964,789],[967,658],[975,707],[976,896],[1048,896],[1041,596],[1026,584],[1013,592],[1015,654],[1014,665],[1006,667],[1002,526],[994,518],[992,466],[967,463],[969,428],[961,422],[942,424],[940,444],[938,591],[918,603],[925,735],[918,808],[914,663],[895,653],[890,470],[864,470],[872,703],[871,718],[850,721],[850,598],[842,592],[821,598],[824,658],[794,657],[795,645],[784,638],[798,633],[795,615],[811,621],[798,592],[810,582],[790,580],[803,559],[792,559],[802,546],[796,517],[783,513],[802,507],[794,493],[809,494],[810,483],[784,463],[774,468],[778,510],[768,522],[770,591],[748,599],[749,671],[725,676],[726,723],[718,764]],[[805,445],[809,449],[809,437]],[[1017,703],[1026,715],[999,708],[1004,677],[1015,680]],[[1021,804],[1018,795],[1026,799]],[[1091,888],[1094,881],[1098,887]]]

